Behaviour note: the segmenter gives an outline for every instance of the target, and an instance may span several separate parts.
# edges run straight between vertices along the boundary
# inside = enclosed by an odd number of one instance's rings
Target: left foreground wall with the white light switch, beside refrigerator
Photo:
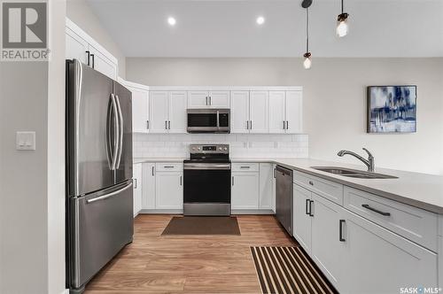
[[[66,6],[63,0],[49,5],[51,62],[0,62],[0,293],[4,294],[65,290]],[[15,133],[20,130],[35,131],[35,151],[15,150]]]

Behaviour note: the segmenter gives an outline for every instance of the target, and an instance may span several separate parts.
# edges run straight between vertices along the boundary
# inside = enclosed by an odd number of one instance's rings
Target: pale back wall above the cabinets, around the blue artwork
[[[376,165],[443,174],[443,58],[127,58],[127,80],[150,86],[303,86],[309,155],[367,147]],[[366,134],[366,87],[417,85],[417,133]]]

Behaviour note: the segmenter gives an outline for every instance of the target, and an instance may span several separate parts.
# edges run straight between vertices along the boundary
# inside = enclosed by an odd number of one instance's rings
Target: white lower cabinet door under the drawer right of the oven
[[[231,208],[259,208],[259,173],[232,173]]]

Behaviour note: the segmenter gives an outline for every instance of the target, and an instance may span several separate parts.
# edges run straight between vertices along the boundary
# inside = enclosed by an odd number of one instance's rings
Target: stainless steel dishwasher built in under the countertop
[[[276,166],[276,217],[292,236],[292,170]]]

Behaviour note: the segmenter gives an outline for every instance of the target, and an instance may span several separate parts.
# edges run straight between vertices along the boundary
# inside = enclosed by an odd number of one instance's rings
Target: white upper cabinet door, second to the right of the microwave
[[[269,97],[268,91],[251,91],[249,99],[249,113],[251,133],[269,132]]]

